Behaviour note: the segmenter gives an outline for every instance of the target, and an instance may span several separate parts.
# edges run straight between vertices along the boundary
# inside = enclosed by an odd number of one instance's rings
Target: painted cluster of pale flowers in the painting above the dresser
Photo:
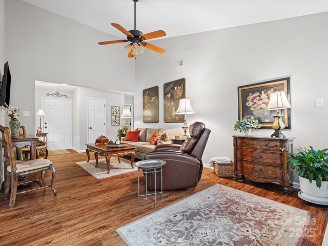
[[[269,104],[269,97],[270,94],[273,92],[277,92],[279,90],[271,88],[270,90],[266,91],[263,90],[261,93],[255,92],[254,94],[250,93],[247,97],[246,106],[250,107],[250,110],[259,110],[259,109],[267,109]]]

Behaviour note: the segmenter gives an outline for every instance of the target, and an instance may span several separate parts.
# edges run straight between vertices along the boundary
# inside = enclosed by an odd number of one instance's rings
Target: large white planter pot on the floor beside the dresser
[[[315,180],[310,183],[309,179],[299,177],[299,186],[299,198],[315,204],[328,205],[328,181],[322,181],[321,187],[318,188]]]

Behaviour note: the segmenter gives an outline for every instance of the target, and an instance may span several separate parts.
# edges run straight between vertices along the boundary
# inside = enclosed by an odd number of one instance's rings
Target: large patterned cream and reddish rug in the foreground
[[[214,185],[116,232],[140,245],[301,245],[311,213]]]

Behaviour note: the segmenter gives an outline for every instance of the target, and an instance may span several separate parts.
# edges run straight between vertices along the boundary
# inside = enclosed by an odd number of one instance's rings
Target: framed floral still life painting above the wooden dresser
[[[269,129],[274,121],[276,110],[267,110],[270,94],[285,91],[288,101],[291,101],[290,78],[280,78],[257,84],[238,87],[238,116],[258,119],[262,129]],[[291,129],[290,109],[281,109],[285,129]]]

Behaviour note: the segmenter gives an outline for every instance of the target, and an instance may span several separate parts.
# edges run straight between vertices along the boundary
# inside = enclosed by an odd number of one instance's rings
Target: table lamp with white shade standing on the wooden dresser
[[[286,97],[285,91],[277,91],[270,94],[267,110],[277,110],[277,114],[273,116],[275,120],[272,124],[272,128],[275,130],[275,132],[271,135],[271,137],[286,137],[281,132],[281,130],[285,128],[285,124],[283,124],[283,115],[280,114],[280,109],[289,109],[291,107],[292,106]]]

